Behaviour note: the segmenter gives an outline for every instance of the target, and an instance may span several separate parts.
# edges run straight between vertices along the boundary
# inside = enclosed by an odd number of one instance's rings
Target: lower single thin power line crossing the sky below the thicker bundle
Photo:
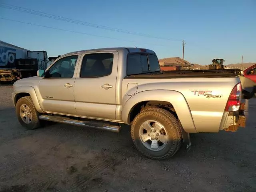
[[[84,32],[73,31],[73,30],[66,30],[66,29],[61,29],[61,28],[56,28],[56,27],[38,25],[38,24],[34,24],[34,23],[28,23],[28,22],[17,21],[17,20],[1,18],[1,17],[0,17],[0,19],[8,20],[8,21],[13,21],[13,22],[19,22],[19,23],[28,24],[28,25],[40,26],[40,27],[49,28],[49,29],[56,29],[56,30],[67,31],[67,32],[72,32],[72,33],[78,33],[78,34],[84,34],[84,35],[89,35],[89,36],[95,36],[95,37],[109,38],[109,39],[114,39],[114,40],[122,40],[122,41],[128,41],[128,42],[133,42],[133,43],[151,44],[151,43],[144,43],[144,42],[137,42],[137,41],[132,41],[132,40],[126,40],[126,39],[112,38],[112,37],[101,36],[101,35],[94,35],[94,34],[89,34],[89,33],[84,33]],[[151,45],[163,46],[163,45],[159,45],[159,44],[151,44]]]

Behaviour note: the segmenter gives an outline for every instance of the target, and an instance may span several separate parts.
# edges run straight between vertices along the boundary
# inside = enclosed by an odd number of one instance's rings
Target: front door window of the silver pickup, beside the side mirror
[[[72,55],[58,60],[46,71],[46,78],[72,78],[78,55]]]

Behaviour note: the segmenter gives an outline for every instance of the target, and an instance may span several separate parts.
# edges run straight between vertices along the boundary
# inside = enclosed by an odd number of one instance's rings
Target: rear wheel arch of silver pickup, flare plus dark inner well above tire
[[[168,108],[176,114],[186,132],[197,132],[186,99],[180,92],[172,90],[148,90],[134,94],[125,102],[122,109],[123,122],[131,124],[142,106],[147,104],[153,104],[153,107]]]

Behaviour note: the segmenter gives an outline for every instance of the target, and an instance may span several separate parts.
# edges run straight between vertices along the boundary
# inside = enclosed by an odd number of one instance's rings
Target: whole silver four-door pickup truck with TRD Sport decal
[[[240,78],[225,71],[162,72],[154,51],[104,48],[59,57],[14,83],[22,126],[44,120],[119,132],[131,125],[136,148],[152,159],[173,156],[189,133],[245,126]]]

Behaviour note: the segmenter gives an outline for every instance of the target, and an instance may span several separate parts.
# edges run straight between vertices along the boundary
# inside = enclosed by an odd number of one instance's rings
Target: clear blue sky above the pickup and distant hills
[[[0,18],[71,30],[44,28],[0,19],[0,40],[48,56],[103,47],[143,47],[158,58],[191,63],[256,62],[256,0],[1,0],[2,3],[157,38],[79,25],[2,8]],[[104,37],[99,37],[104,36]],[[161,38],[161,39],[160,39]]]

